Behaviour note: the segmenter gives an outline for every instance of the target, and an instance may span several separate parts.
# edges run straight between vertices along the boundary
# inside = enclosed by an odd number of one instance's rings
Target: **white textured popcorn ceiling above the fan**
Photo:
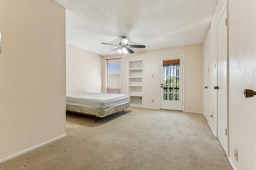
[[[53,0],[66,8],[66,43],[118,55],[120,36],[149,51],[203,43],[218,0]],[[130,54],[132,55],[132,54]]]

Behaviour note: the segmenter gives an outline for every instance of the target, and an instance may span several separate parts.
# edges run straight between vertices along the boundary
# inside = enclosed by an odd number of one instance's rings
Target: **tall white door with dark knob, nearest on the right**
[[[228,150],[228,76],[227,76],[227,10],[225,8],[217,25],[217,137],[223,149]]]

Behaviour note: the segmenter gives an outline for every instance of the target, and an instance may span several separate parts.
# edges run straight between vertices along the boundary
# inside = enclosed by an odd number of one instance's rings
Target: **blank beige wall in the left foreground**
[[[65,9],[1,0],[0,162],[66,135]]]

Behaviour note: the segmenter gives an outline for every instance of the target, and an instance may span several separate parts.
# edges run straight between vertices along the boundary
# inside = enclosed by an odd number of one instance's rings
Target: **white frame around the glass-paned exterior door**
[[[183,66],[182,66],[182,111],[184,111],[184,94],[185,94],[185,90],[184,90],[184,84],[185,84],[185,55],[175,55],[175,56],[166,56],[166,57],[159,57],[159,75],[161,74],[161,67],[162,67],[162,63],[161,63],[161,59],[166,59],[166,58],[175,58],[175,57],[182,57],[183,60]],[[159,76],[159,80],[158,80],[158,84],[159,84],[159,88],[158,88],[158,109],[160,109],[160,100],[161,100],[161,90],[160,90],[160,84],[161,84],[161,75]]]

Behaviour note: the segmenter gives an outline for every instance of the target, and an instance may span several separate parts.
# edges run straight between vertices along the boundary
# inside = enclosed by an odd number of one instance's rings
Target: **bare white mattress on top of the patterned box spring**
[[[94,109],[106,109],[130,102],[128,94],[84,92],[66,94],[66,104]]]

